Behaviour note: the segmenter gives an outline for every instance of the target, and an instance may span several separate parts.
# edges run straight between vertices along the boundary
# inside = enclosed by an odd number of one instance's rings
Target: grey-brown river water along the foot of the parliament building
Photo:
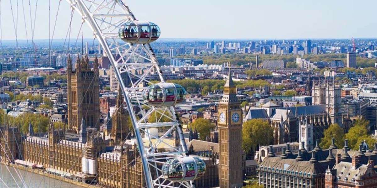
[[[0,188],[82,188],[81,186],[25,170],[14,169],[3,164],[0,164],[0,179],[2,180],[0,180]],[[23,182],[20,179],[23,179]]]

